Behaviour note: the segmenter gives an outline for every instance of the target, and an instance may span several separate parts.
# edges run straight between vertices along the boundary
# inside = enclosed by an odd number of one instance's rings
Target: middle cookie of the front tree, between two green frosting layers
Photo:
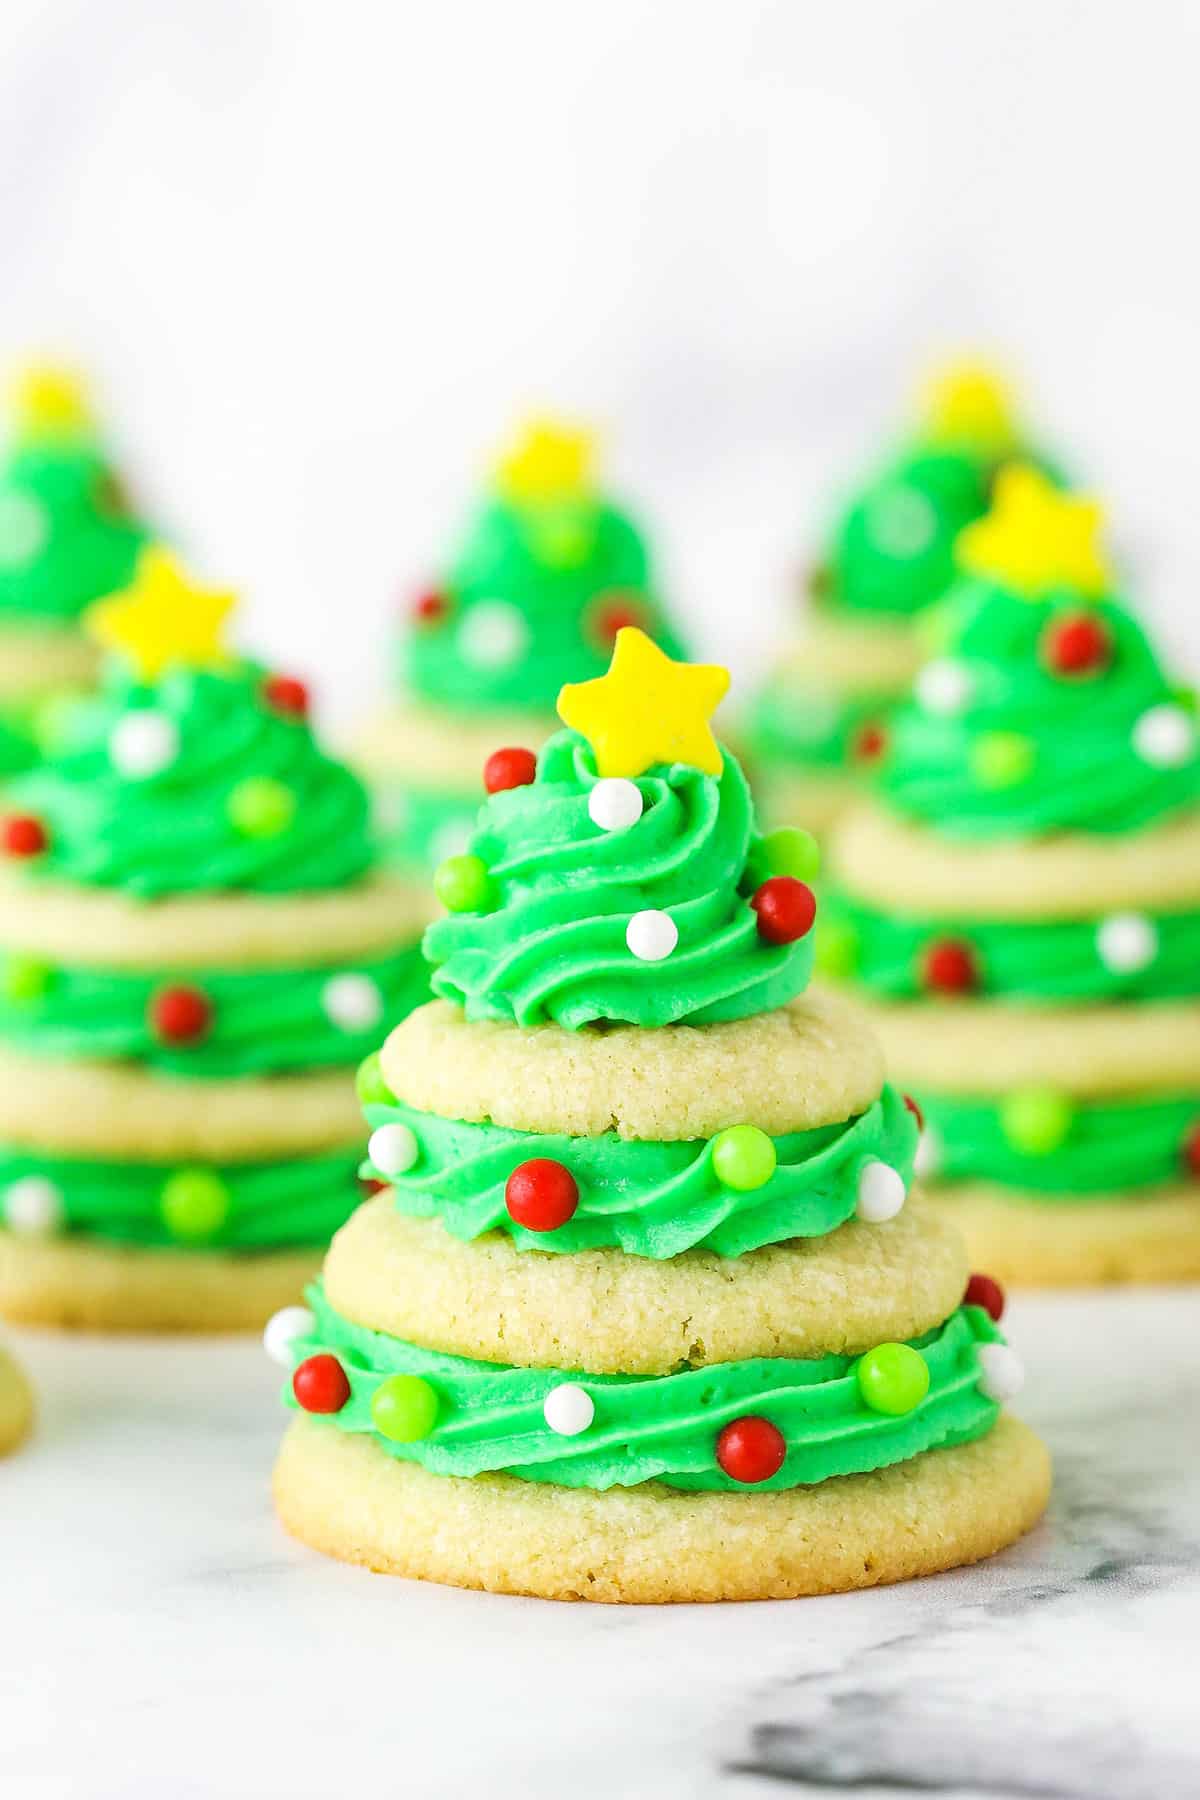
[[[664,1375],[756,1355],[858,1355],[916,1337],[963,1300],[963,1242],[919,1197],[736,1260],[619,1249],[556,1256],[500,1231],[461,1244],[378,1193],[333,1238],[326,1294],[345,1318],[484,1363]]]

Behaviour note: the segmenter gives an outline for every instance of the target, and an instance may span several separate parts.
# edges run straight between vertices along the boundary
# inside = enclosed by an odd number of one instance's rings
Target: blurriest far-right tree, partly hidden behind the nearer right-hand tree
[[[923,650],[916,619],[954,576],[954,544],[988,509],[1022,432],[993,373],[945,369],[912,439],[840,513],[808,576],[810,614],[748,720],[768,819],[828,832],[887,743],[887,716]]]

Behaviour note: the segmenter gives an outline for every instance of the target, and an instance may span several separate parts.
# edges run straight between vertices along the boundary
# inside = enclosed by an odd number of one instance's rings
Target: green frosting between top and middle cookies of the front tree
[[[414,1107],[367,1105],[367,1121],[401,1123],[419,1156],[390,1177],[401,1213],[441,1219],[457,1238],[506,1231],[520,1249],[581,1251],[619,1246],[631,1256],[662,1260],[685,1249],[743,1256],[763,1244],[824,1237],[855,1213],[864,1163],[882,1161],[912,1179],[918,1129],[892,1087],[858,1118],[775,1138],[774,1175],[752,1190],[725,1186],[712,1166],[712,1141],[642,1143],[533,1136],[500,1125],[444,1120]],[[579,1186],[576,1215],[556,1231],[527,1231],[504,1204],[513,1170],[551,1157]],[[380,1177],[371,1163],[363,1175]]]

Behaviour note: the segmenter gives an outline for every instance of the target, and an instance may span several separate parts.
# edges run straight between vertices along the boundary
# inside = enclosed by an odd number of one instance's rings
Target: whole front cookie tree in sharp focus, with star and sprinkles
[[[461,1586],[756,1598],[973,1561],[1042,1510],[1016,1359],[858,1015],[806,994],[802,832],[725,673],[637,630],[439,871],[437,1001],[360,1078],[367,1170],[268,1328],[299,1537]]]

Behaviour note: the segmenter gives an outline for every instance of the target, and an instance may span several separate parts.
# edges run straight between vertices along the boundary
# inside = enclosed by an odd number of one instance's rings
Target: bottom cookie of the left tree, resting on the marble
[[[324,1251],[230,1255],[0,1231],[0,1314],[99,1332],[261,1330],[293,1305]]]

